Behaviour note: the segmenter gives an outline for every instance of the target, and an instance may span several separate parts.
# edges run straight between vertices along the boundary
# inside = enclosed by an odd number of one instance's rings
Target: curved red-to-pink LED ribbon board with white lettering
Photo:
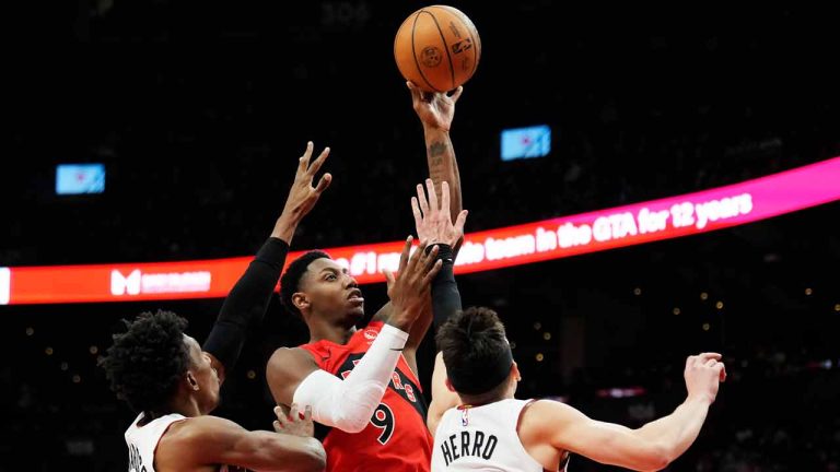
[[[466,235],[456,273],[707,233],[840,199],[840,157],[696,193]],[[402,241],[326,249],[359,283],[383,282]],[[302,251],[289,255],[288,261]],[[250,257],[0,268],[0,304],[224,297]]]

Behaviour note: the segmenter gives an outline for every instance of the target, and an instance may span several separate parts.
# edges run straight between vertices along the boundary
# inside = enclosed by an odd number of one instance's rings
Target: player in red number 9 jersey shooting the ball
[[[275,352],[266,377],[279,405],[312,405],[313,418],[330,427],[324,436],[330,471],[428,471],[431,461],[432,438],[425,428],[416,361],[432,323],[429,285],[400,287],[406,284],[404,276],[420,275],[412,267],[427,270],[436,258],[441,260],[436,272],[444,258],[453,257],[452,249],[439,253],[439,248],[456,247],[463,238],[466,212],[460,209],[450,140],[455,102],[463,88],[450,96],[407,85],[423,123],[430,175],[455,182],[440,197],[447,205],[452,202],[439,212],[440,225],[432,232],[418,228],[421,241],[433,249],[429,255],[418,250],[410,259],[404,253],[406,269],[388,282],[392,302],[360,330],[355,324],[364,317],[362,293],[327,253],[301,256],[280,283],[283,304],[308,327],[310,343]],[[434,188],[430,189],[436,198]],[[431,259],[413,259],[421,257]]]

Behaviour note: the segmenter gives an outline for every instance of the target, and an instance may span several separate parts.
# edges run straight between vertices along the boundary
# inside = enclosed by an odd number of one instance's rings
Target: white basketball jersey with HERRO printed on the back
[[[516,433],[522,409],[529,402],[509,399],[447,410],[434,433],[432,472],[542,472]]]

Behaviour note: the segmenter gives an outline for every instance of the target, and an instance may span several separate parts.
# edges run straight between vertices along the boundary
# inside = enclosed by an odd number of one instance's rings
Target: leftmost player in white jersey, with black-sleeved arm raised
[[[313,187],[329,149],[310,164],[312,151],[310,142],[271,237],[228,295],[203,346],[170,311],[141,314],[114,335],[101,365],[112,389],[139,413],[126,430],[130,472],[324,470],[326,452],[313,437],[311,409],[301,417],[296,405],[276,408],[275,432],[249,432],[209,415],[247,332],[262,321],[298,224],[331,179],[325,174]]]

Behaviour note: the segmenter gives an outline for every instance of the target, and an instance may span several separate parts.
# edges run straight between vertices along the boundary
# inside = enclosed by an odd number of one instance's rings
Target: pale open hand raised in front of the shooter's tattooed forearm
[[[464,238],[464,224],[468,212],[463,210],[453,223],[450,213],[450,185],[444,181],[441,186],[443,189],[439,205],[432,179],[425,179],[425,192],[421,184],[417,185],[417,197],[411,197],[415,228],[420,240],[432,245],[445,244],[454,248]]]

